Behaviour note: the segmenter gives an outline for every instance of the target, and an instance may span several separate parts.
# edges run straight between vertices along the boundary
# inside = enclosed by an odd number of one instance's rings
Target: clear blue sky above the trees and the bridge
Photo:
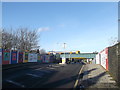
[[[38,29],[46,51],[101,51],[118,34],[117,2],[16,2],[2,4],[3,27]]]

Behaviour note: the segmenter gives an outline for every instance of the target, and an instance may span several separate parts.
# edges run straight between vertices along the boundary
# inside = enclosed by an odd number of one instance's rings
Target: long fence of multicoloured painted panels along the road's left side
[[[2,64],[17,64],[27,62],[41,62],[52,63],[54,62],[54,55],[40,55],[39,53],[20,52],[13,50],[0,49],[0,58]]]

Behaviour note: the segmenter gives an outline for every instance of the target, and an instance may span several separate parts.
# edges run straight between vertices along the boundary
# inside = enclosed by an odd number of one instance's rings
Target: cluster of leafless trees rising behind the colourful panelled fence
[[[38,47],[39,35],[37,30],[18,28],[16,31],[2,31],[2,44],[4,49],[31,50]]]

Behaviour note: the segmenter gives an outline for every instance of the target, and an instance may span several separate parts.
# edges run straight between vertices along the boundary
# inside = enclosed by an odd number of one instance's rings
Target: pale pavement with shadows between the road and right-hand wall
[[[80,79],[79,82],[80,88],[84,88],[85,90],[120,90],[116,81],[101,65],[86,64],[84,65],[82,73],[83,78]]]

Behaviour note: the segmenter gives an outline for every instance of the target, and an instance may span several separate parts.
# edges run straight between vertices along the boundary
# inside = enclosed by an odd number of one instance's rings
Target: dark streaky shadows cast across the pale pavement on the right
[[[88,71],[83,71],[83,74],[86,75],[86,77],[88,77],[88,74],[91,71],[96,70],[97,68],[88,70]],[[119,90],[118,88],[110,88],[109,86],[113,83],[100,83],[99,88],[95,87],[95,88],[90,88],[91,86],[94,86],[101,77],[103,77],[104,75],[106,75],[107,72],[103,72],[95,77],[91,77],[91,78],[85,78],[84,80],[82,80],[82,82],[79,83],[78,88],[81,87],[80,90]]]

